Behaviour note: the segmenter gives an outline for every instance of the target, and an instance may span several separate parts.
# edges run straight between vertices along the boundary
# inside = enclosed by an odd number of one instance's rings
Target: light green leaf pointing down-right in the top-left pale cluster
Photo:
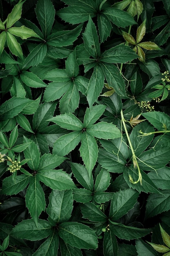
[[[11,33],[7,31],[7,45],[11,51],[12,54],[15,56],[18,56],[19,58],[23,59],[22,49],[20,44],[15,39],[15,36],[13,36]]]

